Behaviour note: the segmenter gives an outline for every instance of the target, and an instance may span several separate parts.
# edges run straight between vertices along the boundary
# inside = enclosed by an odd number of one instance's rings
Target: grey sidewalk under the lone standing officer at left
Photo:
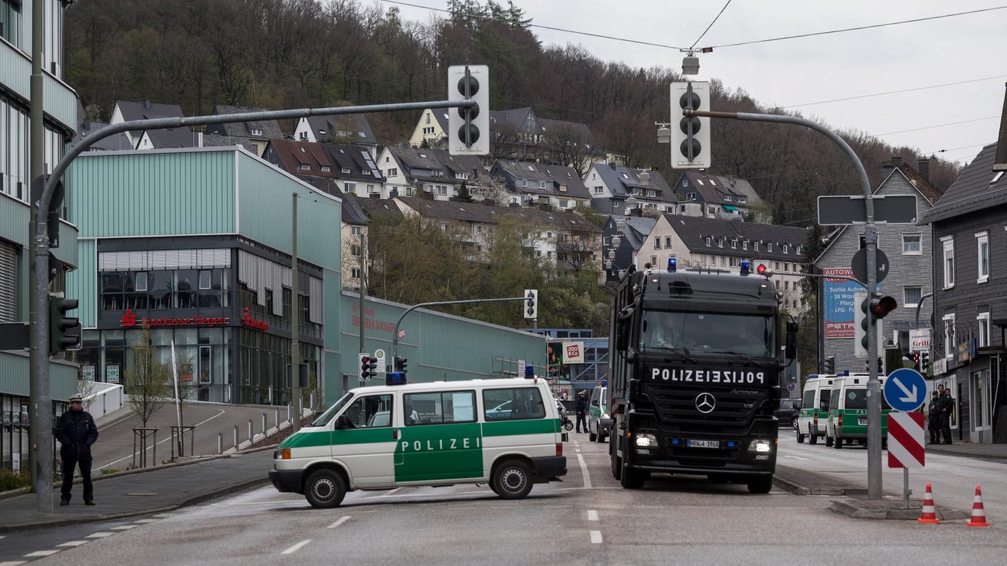
[[[115,477],[95,476],[97,506],[85,506],[84,487],[75,483],[66,507],[59,506],[59,488],[53,488],[52,515],[35,511],[34,493],[0,500],[0,533],[106,521],[194,505],[268,483],[272,459],[272,450],[262,450]]]

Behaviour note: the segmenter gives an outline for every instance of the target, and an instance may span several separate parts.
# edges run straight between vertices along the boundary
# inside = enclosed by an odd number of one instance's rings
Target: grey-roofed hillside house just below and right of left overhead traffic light
[[[591,194],[572,167],[497,159],[489,174],[503,180],[514,204],[554,208],[591,205]]]

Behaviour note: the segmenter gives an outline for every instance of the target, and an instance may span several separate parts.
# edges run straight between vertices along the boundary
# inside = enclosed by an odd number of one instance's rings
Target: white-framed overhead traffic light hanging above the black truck
[[[710,83],[689,81],[672,83],[672,167],[707,169],[710,167],[710,119],[687,117],[685,110],[710,110]]]

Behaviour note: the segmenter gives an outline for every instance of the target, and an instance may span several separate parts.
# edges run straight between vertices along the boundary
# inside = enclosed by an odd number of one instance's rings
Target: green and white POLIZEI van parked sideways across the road
[[[315,508],[405,485],[488,482],[522,499],[566,474],[560,424],[542,380],[362,387],[284,440],[269,478]]]

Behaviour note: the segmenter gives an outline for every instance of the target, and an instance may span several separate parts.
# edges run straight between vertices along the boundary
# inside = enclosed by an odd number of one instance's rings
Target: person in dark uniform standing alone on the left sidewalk
[[[69,505],[74,469],[78,466],[84,479],[84,504],[95,505],[95,488],[91,483],[91,445],[98,440],[98,427],[91,414],[84,410],[84,398],[80,394],[70,396],[69,411],[56,419],[54,434],[61,444],[59,456],[62,458],[63,484],[59,505]]]

